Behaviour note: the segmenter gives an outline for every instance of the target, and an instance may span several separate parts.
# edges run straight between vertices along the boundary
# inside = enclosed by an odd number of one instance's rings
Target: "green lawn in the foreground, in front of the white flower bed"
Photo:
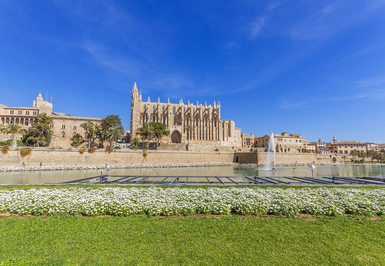
[[[10,264],[384,265],[384,250],[384,219],[0,219],[0,261]]]

